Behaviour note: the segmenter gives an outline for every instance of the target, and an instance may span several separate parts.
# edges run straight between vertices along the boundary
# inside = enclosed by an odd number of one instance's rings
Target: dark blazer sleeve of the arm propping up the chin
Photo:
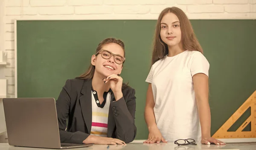
[[[111,102],[111,108],[116,122],[116,137],[125,143],[134,140],[137,127],[135,126],[135,110],[136,110],[136,97],[135,90],[130,90],[131,94],[125,101],[124,97],[118,101]]]

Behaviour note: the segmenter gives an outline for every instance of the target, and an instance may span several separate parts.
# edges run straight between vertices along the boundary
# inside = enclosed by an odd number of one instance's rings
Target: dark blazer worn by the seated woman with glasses
[[[56,109],[61,143],[82,142],[90,135],[92,124],[92,80],[69,79],[62,88]],[[129,86],[122,88],[123,97],[115,101],[112,93],[108,113],[108,133],[125,143],[134,140],[136,97]],[[68,122],[67,122],[68,120]],[[66,129],[67,127],[67,129]]]

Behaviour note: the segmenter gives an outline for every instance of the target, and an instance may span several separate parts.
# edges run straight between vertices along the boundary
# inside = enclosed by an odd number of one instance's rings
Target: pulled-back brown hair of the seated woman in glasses
[[[99,43],[99,45],[96,49],[96,53],[99,52],[102,49],[102,46],[104,46],[105,44],[109,44],[109,43],[116,43],[119,46],[121,46],[122,49],[124,50],[124,57],[125,57],[125,44],[123,43],[122,40],[117,40],[116,38],[106,38],[106,39],[102,40]],[[123,62],[123,63],[125,63],[125,62]],[[90,79],[93,78],[94,72],[95,72],[95,66],[90,64],[88,70],[84,74],[82,74],[82,75],[80,75],[79,77],[76,77],[76,78],[84,79],[84,80],[90,80]]]

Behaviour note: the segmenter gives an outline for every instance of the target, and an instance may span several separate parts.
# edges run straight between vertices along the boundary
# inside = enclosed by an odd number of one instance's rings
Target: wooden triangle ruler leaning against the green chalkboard
[[[227,131],[239,117],[250,107],[250,116],[236,131]],[[251,131],[242,131],[248,124]],[[238,110],[219,128],[213,138],[256,138],[256,91],[242,104]]]

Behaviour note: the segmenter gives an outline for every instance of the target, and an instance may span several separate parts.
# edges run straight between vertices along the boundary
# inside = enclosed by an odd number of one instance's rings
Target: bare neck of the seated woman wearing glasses
[[[93,87],[93,90],[96,90],[98,93],[108,92],[108,90],[110,89],[109,82],[104,83],[104,81],[102,80],[103,78],[106,78],[106,77],[94,72],[93,79],[92,79],[92,87]]]

